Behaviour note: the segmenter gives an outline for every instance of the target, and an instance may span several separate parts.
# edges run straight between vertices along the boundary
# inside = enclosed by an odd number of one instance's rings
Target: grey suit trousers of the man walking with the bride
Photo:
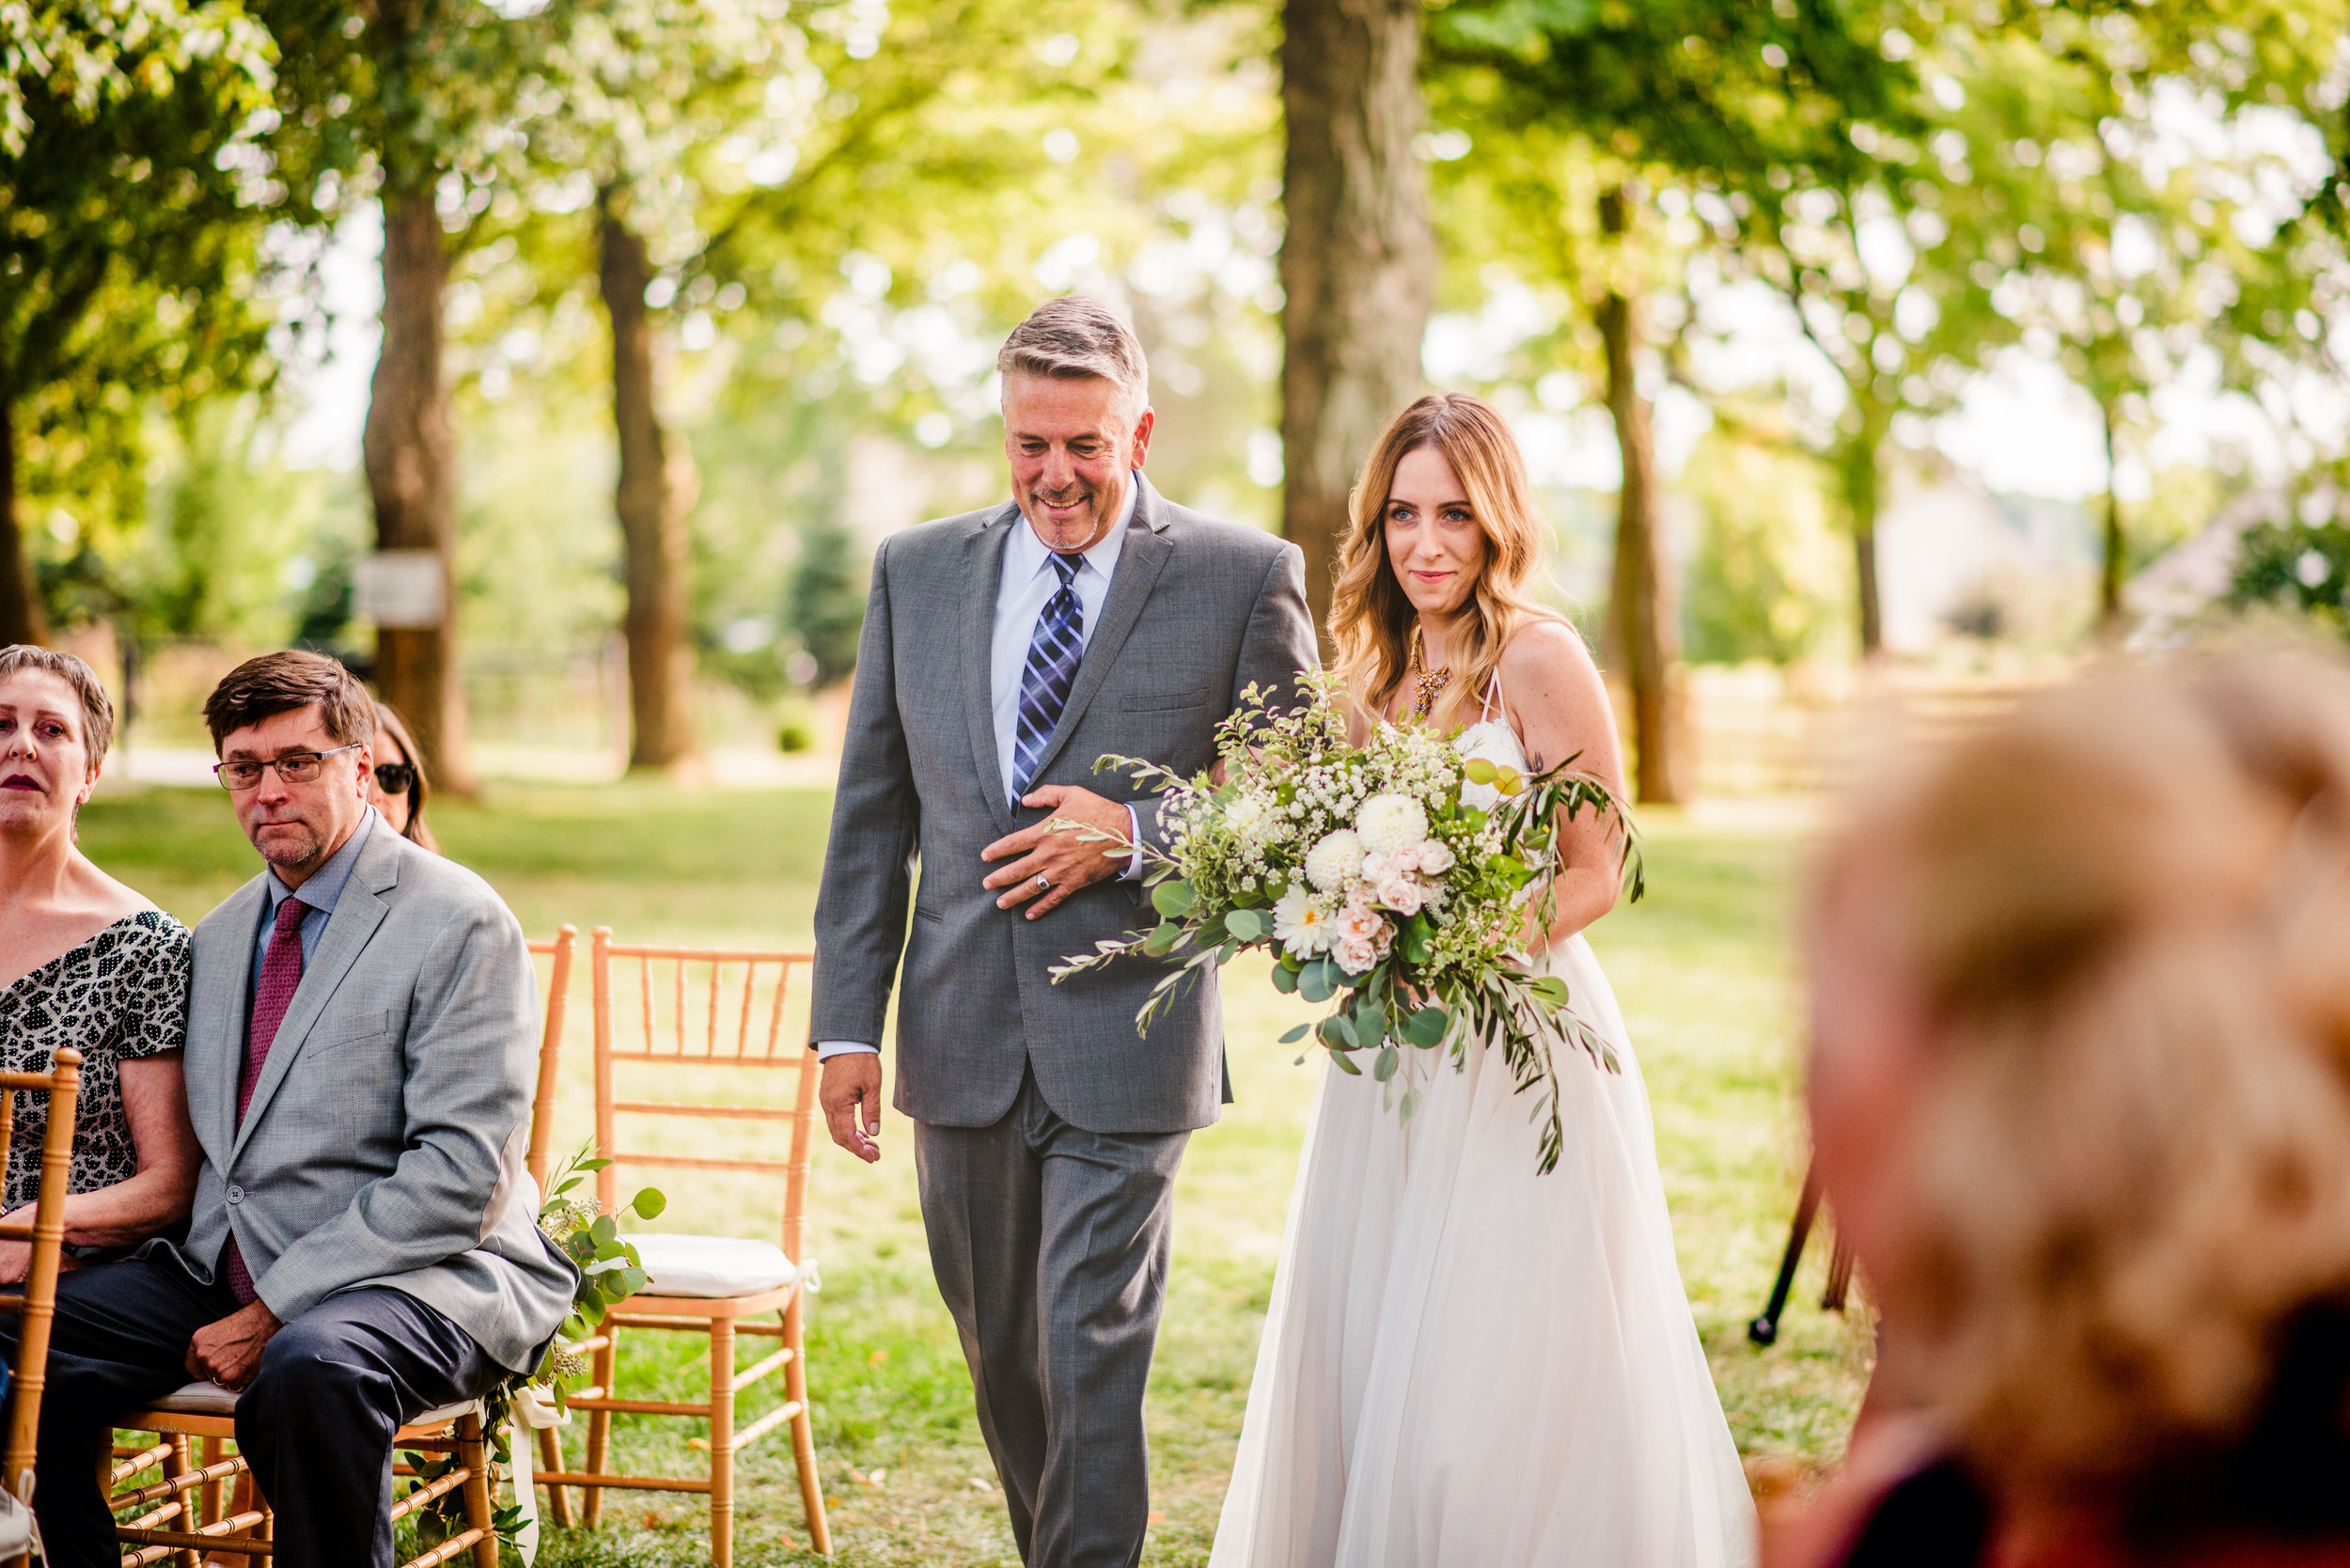
[[[1191,1133],[1088,1133],[1025,1077],[992,1126],[914,1124],[931,1267],[1029,1568],[1133,1568],[1142,1387]]]

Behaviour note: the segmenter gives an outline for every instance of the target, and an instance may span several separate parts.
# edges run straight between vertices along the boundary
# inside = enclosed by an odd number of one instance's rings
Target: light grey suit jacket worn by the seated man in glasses
[[[526,1371],[576,1274],[538,1232],[522,1164],[538,1060],[522,926],[486,882],[378,823],[240,1126],[266,903],[256,877],[195,929],[186,1072],[204,1168],[181,1262],[212,1279],[233,1229],[282,1321],[390,1286]]]

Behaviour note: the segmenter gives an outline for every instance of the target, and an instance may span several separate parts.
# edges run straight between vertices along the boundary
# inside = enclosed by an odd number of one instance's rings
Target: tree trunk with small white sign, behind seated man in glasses
[[[456,449],[442,383],[442,289],[449,254],[430,176],[383,193],[383,350],[369,386],[367,489],[376,548],[432,550],[439,625],[376,630],[376,689],[407,717],[435,790],[470,795],[465,698],[456,684]]]

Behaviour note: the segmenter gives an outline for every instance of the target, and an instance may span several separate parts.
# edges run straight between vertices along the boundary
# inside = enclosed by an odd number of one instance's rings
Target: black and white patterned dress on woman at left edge
[[[188,926],[162,910],[139,910],[0,990],[0,1067],[47,1072],[59,1046],[82,1053],[82,1100],[73,1117],[68,1192],[94,1192],[139,1175],[139,1150],[122,1112],[122,1063],[188,1044]],[[40,1140],[49,1098],[16,1098],[7,1152],[7,1208],[40,1194]]]

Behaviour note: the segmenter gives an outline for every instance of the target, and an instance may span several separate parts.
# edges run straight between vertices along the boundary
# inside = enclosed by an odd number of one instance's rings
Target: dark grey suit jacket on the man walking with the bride
[[[1027,522],[1006,503],[907,529],[874,555],[815,898],[808,1037],[881,1044],[902,959],[895,1103],[907,1117],[989,1126],[1027,1067],[1046,1105],[1086,1131],[1208,1126],[1224,1060],[1213,973],[1149,1037],[1135,1034],[1135,1011],[1161,964],[1121,959],[1065,985],[1048,973],[1156,922],[1142,886],[1097,882],[1034,922],[999,910],[982,886],[996,867],[980,851],[1048,816],[1006,804],[989,708],[996,585],[1015,527]],[[1297,545],[1201,517],[1142,482],[1036,783],[1135,802],[1142,835],[1159,842],[1156,797],[1137,797],[1126,773],[1095,776],[1095,757],[1206,769],[1241,689],[1288,693],[1314,658]]]

